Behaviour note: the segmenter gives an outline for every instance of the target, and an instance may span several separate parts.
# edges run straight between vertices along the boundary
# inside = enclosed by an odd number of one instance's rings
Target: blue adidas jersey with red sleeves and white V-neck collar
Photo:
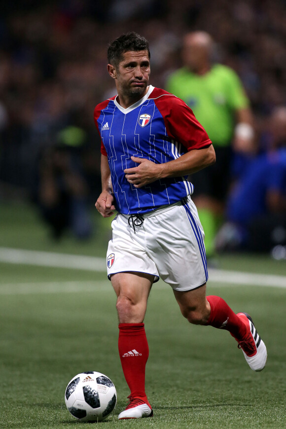
[[[150,85],[146,95],[126,109],[116,96],[100,103],[94,120],[102,140],[101,153],[108,157],[119,213],[151,212],[193,193],[187,176],[159,179],[135,188],[124,174],[126,168],[138,165],[131,156],[162,164],[212,144],[192,110],[178,97]]]

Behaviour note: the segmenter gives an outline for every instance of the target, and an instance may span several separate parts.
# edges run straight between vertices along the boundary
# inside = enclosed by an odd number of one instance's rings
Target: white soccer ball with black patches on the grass
[[[101,372],[89,371],[72,378],[65,393],[70,413],[80,422],[100,422],[114,410],[116,389]]]

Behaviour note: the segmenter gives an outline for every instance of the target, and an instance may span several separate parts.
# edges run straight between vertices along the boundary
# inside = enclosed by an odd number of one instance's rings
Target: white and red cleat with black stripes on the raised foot
[[[238,313],[237,316],[245,323],[247,333],[244,340],[238,340],[238,347],[243,351],[247,363],[253,371],[262,371],[266,364],[267,351],[261,340],[252,319],[247,313]]]

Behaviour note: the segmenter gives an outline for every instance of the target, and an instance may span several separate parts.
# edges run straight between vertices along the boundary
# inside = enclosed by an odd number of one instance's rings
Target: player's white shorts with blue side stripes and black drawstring
[[[174,290],[195,289],[208,280],[204,230],[190,197],[186,202],[143,215],[141,226],[117,214],[111,223],[107,249],[107,275],[120,272],[161,277]]]

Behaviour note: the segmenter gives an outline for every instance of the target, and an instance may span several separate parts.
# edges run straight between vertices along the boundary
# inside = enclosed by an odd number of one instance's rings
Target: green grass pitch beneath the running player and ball
[[[107,230],[86,244],[67,237],[55,245],[29,208],[8,206],[2,214],[0,247],[105,256]],[[268,256],[228,255],[219,262],[286,275],[286,262]],[[186,322],[172,290],[159,282],[145,318],[146,392],[154,417],[119,422],[129,390],[118,357],[115,294],[105,274],[0,263],[0,428],[87,425],[67,411],[64,393],[74,375],[90,370],[105,373],[117,390],[114,412],[95,424],[105,429],[285,428],[286,288],[210,280],[208,293],[250,313],[268,349],[266,368],[251,371],[228,332]]]

